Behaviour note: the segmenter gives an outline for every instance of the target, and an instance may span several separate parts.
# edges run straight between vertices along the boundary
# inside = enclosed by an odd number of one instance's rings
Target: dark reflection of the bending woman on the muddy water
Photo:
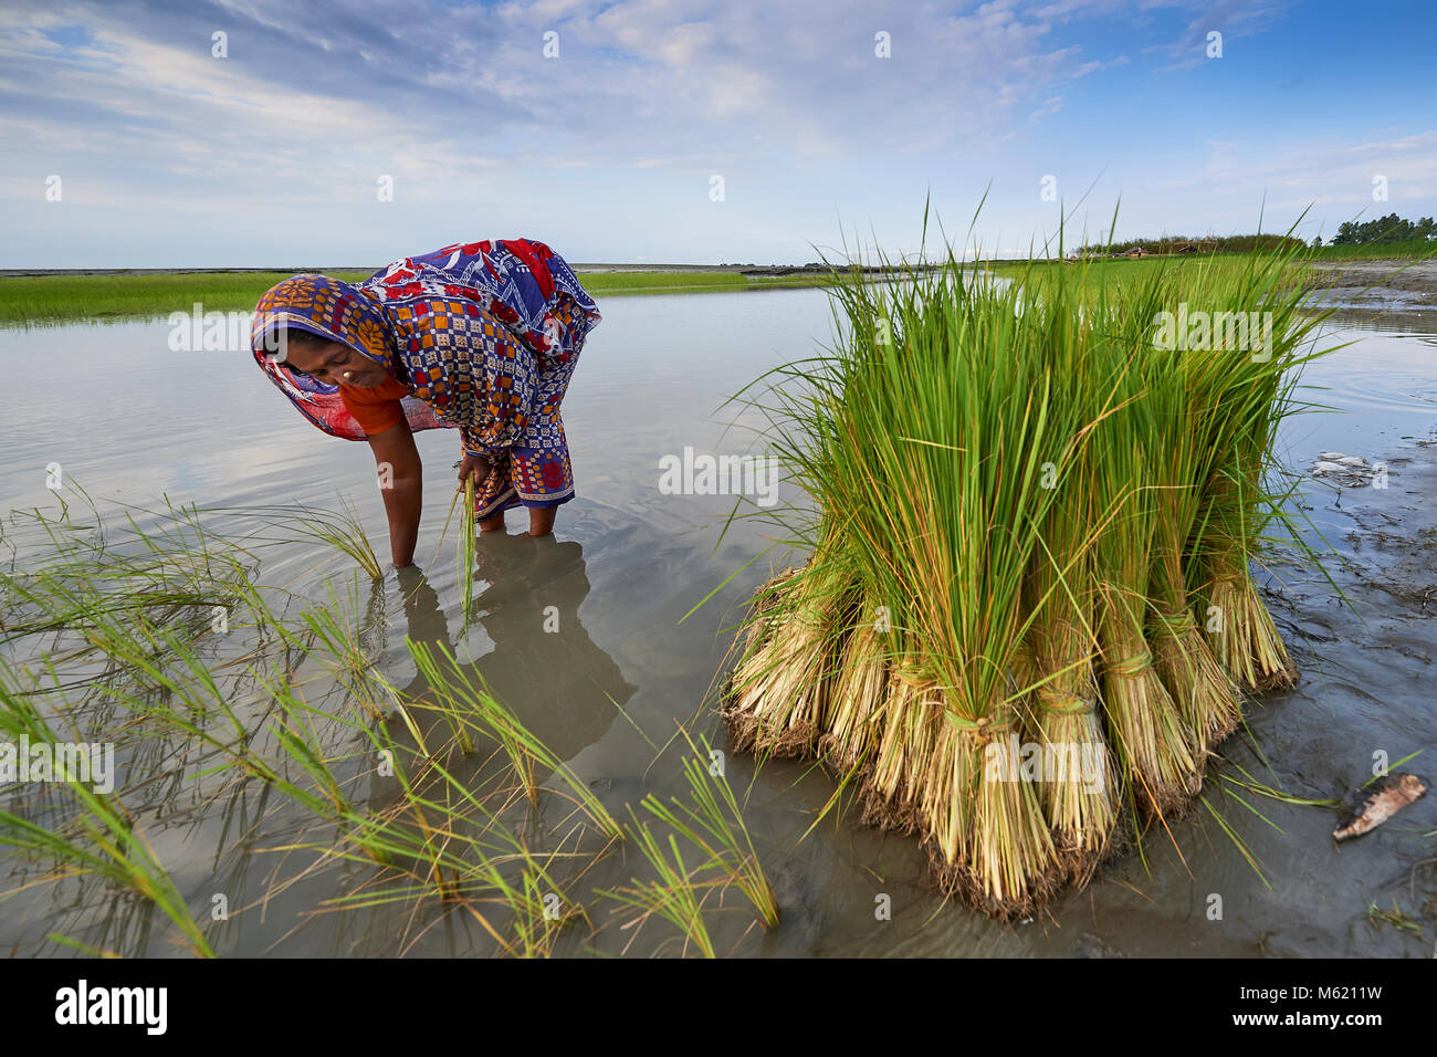
[[[579,605],[589,594],[583,548],[553,536],[489,536],[480,548],[479,575],[490,587],[474,604],[494,649],[463,667],[483,676],[559,759],[570,759],[604,736],[637,689],[579,623]],[[431,650],[438,643],[453,650],[438,595],[424,574],[415,567],[399,569],[399,590],[408,637]],[[424,677],[415,676],[404,696],[421,699],[427,689]],[[431,731],[443,739],[447,729],[435,716],[422,733],[425,741]],[[407,741],[398,722],[394,733]],[[378,787],[375,794],[388,795]]]

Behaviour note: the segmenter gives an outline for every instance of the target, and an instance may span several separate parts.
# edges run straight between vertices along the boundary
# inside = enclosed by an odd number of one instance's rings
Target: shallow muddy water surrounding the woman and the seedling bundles
[[[726,577],[770,548],[772,529],[734,521],[720,542],[733,496],[665,495],[660,459],[697,453],[743,454],[750,436],[729,423],[724,397],[762,371],[832,338],[821,290],[744,296],[688,295],[611,299],[565,400],[579,498],[562,508],[556,538],[483,536],[476,620],[461,633],[453,548],[435,561],[448,509],[457,437],[418,437],[425,460],[425,519],[417,549],[424,567],[408,605],[391,572],[376,604],[387,614],[381,663],[399,687],[420,679],[404,649],[448,643],[474,666],[616,814],[638,808],[645,791],[681,791],[680,754],[668,743],[677,723],[721,743],[706,712],[711,680],[729,647],[724,628],[782,551],[759,557],[707,605],[688,613]],[[0,394],[0,506],[55,508],[46,465],[102,502],[201,506],[290,503],[333,506],[351,496],[381,555],[385,521],[365,444],[323,436],[302,421],[243,352],[180,355],[165,349],[164,324],[65,326],[0,332],[0,361],[13,378],[45,365],[45,388]],[[1300,798],[1328,798],[1371,774],[1375,752],[1388,759],[1428,748],[1410,769],[1437,777],[1437,314],[1410,312],[1400,325],[1354,314],[1325,344],[1351,342],[1308,371],[1311,400],[1341,413],[1289,424],[1282,446],[1305,467],[1319,450],[1385,462],[1388,488],[1346,489],[1303,480],[1299,505],[1313,532],[1335,551],[1329,571],[1346,594],[1339,604],[1311,568],[1273,568],[1273,611],[1302,667],[1299,686],[1249,709],[1249,732],[1224,755],[1269,785]],[[37,375],[39,377],[39,375]],[[754,424],[750,414],[744,418]],[[780,500],[790,498],[786,485]],[[750,508],[752,509],[752,508]],[[286,582],[319,598],[326,577],[348,575],[316,544],[267,552],[260,580]],[[553,608],[550,608],[553,607]],[[543,630],[558,613],[559,633]],[[1266,762],[1265,762],[1266,761]],[[139,768],[142,761],[131,759]],[[1270,765],[1270,769],[1269,769]],[[142,775],[122,774],[129,784]],[[1430,955],[1437,939],[1437,797],[1427,797],[1378,833],[1335,847],[1334,814],[1247,797],[1259,817],[1209,788],[1213,808],[1246,843],[1260,873],[1206,810],[1150,834],[1144,850],[1114,864],[1088,890],[1050,907],[1040,920],[994,925],[946,905],[925,884],[924,859],[910,838],[882,836],[855,820],[829,818],[805,840],[832,784],[802,764],[729,756],[733,787],[747,791],[746,820],[777,890],[783,925],[775,935],[749,929],[752,915],[716,912],[720,952],[746,955]],[[372,802],[387,795],[382,784]],[[490,949],[463,915],[395,907],[331,909],[323,900],[365,882],[356,866],[326,867],[297,880],[305,863],[266,851],[299,824],[295,813],[251,791],[177,805],[147,815],[147,834],[191,909],[208,919],[211,893],[253,906],[217,925],[211,939],[227,955],[461,955]],[[134,801],[144,804],[145,794]],[[131,797],[126,804],[137,807]],[[249,830],[256,820],[260,824]],[[239,825],[243,820],[243,825]],[[237,838],[237,833],[244,833]],[[579,889],[627,882],[639,871],[622,854],[601,861]],[[0,873],[4,873],[0,869]],[[286,879],[280,884],[277,879]],[[9,887],[9,884],[7,884]],[[45,936],[60,929],[124,953],[165,955],[161,919],[116,923],[131,913],[66,902],[70,893],[32,893],[7,905],[0,949],[53,953]],[[875,919],[879,897],[891,920]],[[1210,909],[1220,897],[1221,916]],[[1374,925],[1371,905],[1394,906],[1421,935]],[[572,935],[560,953],[625,949],[606,905],[586,900],[599,928]],[[730,906],[736,900],[730,899]],[[579,930],[582,932],[582,930]],[[651,922],[629,953],[677,952],[675,932]]]

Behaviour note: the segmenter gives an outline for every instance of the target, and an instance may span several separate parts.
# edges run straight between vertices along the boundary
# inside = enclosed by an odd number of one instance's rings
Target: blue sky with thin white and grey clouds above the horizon
[[[1434,0],[0,0],[0,267],[1329,237],[1437,214],[1434,30]]]

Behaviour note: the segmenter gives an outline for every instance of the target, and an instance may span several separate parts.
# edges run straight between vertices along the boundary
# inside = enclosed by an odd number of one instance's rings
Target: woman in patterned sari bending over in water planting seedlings
[[[414,559],[421,466],[414,430],[456,426],[484,532],[529,509],[530,535],[573,498],[559,404],[599,309],[540,242],[456,243],[349,285],[296,275],[256,306],[251,351],[305,417],[368,440],[395,568]]]

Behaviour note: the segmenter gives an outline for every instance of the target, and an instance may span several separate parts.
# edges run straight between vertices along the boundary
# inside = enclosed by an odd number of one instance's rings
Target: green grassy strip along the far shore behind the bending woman
[[[249,312],[260,295],[289,272],[210,272],[167,275],[56,275],[0,278],[0,324],[101,322],[190,312]],[[356,282],[369,272],[332,272]],[[691,293],[812,286],[815,275],[746,276],[739,272],[579,273],[593,296]]]

